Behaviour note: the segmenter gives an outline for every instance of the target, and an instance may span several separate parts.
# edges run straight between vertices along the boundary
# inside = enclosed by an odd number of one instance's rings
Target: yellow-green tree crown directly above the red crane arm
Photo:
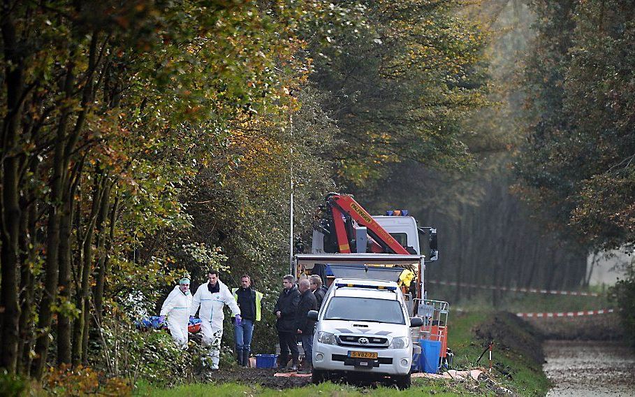
[[[346,3],[346,2],[344,2]],[[333,152],[342,182],[360,187],[399,161],[465,168],[460,120],[486,104],[480,67],[486,36],[462,1],[353,1],[367,25],[314,44],[318,87],[332,93],[346,142]]]

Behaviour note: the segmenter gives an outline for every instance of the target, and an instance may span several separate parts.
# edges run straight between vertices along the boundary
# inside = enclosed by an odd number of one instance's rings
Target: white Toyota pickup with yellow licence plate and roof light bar
[[[396,282],[336,278],[320,311],[312,310],[309,318],[316,321],[314,383],[337,375],[410,386],[410,327],[423,319],[409,317]]]

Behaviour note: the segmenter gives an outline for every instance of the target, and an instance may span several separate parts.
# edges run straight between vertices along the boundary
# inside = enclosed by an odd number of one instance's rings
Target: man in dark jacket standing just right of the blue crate
[[[280,342],[280,366],[286,366],[289,362],[289,352],[293,359],[291,370],[298,370],[298,343],[295,328],[295,312],[298,310],[300,302],[300,291],[295,287],[295,278],[292,275],[282,277],[282,292],[278,296],[273,312],[278,318],[276,328],[278,330],[278,340]]]

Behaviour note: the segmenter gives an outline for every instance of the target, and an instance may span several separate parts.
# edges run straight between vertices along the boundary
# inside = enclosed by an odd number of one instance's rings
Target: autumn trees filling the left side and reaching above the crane
[[[297,237],[386,164],[465,166],[485,36],[461,4],[6,1],[0,366],[129,390],[112,335],[182,273],[277,289],[291,181]]]

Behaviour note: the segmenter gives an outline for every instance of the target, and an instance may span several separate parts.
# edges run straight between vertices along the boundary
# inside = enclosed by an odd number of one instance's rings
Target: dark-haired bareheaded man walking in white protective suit
[[[212,370],[218,369],[220,358],[221,338],[223,336],[223,308],[228,305],[236,324],[240,324],[240,308],[233,295],[225,284],[218,278],[217,270],[207,272],[207,282],[200,285],[194,294],[190,315],[196,315],[200,306],[198,317],[200,318],[200,332],[203,345],[210,347],[210,359]]]

